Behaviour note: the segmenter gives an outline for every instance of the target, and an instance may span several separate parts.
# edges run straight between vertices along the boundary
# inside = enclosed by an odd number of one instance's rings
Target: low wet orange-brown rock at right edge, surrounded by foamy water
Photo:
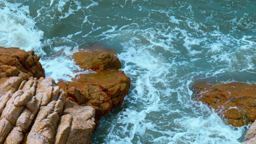
[[[233,126],[256,119],[256,84],[232,82],[216,86],[197,86],[199,100],[209,104]]]

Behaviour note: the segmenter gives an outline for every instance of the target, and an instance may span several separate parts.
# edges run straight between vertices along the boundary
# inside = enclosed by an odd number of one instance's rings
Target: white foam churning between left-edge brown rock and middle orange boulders
[[[43,46],[50,48],[51,53],[40,59],[40,62],[45,69],[46,77],[52,77],[56,82],[60,79],[70,81],[76,74],[93,72],[91,70],[84,71],[75,64],[72,55],[78,51],[78,46],[67,37],[55,37],[43,43]]]

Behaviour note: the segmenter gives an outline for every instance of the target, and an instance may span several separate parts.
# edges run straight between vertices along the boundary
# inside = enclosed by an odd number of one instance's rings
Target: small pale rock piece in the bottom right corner
[[[256,121],[250,126],[242,144],[256,144]]]

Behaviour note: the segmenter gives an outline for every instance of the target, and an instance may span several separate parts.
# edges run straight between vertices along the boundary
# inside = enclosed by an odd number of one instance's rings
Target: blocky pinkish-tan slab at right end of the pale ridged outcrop
[[[89,144],[95,126],[94,108],[67,101],[63,114],[55,144]]]

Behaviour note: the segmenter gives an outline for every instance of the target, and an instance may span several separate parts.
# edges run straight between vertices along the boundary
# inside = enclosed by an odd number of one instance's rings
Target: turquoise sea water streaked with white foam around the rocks
[[[35,50],[56,81],[79,69],[73,52],[115,49],[131,90],[94,144],[240,144],[247,128],[195,101],[191,85],[256,83],[255,33],[255,0],[0,0],[0,46]]]

